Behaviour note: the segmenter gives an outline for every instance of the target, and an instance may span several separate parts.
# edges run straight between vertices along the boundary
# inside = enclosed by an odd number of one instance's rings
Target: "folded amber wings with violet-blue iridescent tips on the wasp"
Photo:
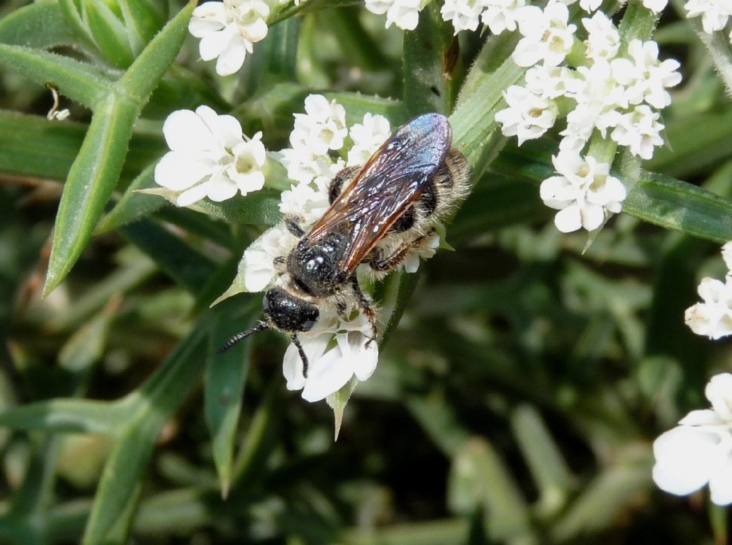
[[[368,160],[306,240],[348,233],[339,273],[353,273],[389,227],[422,194],[452,144],[447,117],[423,114],[402,125]]]

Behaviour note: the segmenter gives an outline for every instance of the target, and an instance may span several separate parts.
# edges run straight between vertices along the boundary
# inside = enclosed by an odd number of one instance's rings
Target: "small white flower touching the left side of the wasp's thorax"
[[[244,287],[248,292],[264,291],[275,279],[275,258],[286,256],[294,247],[296,238],[285,226],[276,225],[264,231],[244,250]]]

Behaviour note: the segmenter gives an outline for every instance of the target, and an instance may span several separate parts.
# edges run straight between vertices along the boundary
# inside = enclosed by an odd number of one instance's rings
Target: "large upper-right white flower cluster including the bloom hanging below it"
[[[671,103],[667,89],[679,84],[681,75],[676,71],[678,62],[658,59],[654,41],[631,40],[620,55],[619,31],[601,11],[582,19],[586,40],[580,43],[575,36],[578,27],[569,23],[567,4],[572,3],[550,0],[543,10],[525,6],[515,13],[523,37],[512,59],[529,70],[523,86],[504,91],[507,108],[496,113],[496,122],[504,136],[516,136],[521,145],[555,125],[560,100],[564,111],[571,108],[560,133],[564,137],[560,154],[554,157],[561,176],[545,180],[542,199],[561,209],[555,218],[561,231],[580,226],[591,231],[621,210],[625,190],[618,179],[608,176],[612,157],[583,157],[582,150],[598,135],[650,159],[654,147],[663,144],[659,111]],[[659,11],[666,1],[644,3]],[[599,4],[580,0],[586,11]],[[570,52],[575,67],[567,66]]]

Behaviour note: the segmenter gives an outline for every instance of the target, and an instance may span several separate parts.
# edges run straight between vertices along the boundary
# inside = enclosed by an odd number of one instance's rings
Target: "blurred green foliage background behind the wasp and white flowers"
[[[650,478],[651,441],[732,357],[683,323],[732,239],[732,103],[685,21],[657,32],[686,81],[668,147],[619,155],[627,213],[586,249],[538,196],[556,133],[496,131],[514,44],[453,40],[437,3],[406,33],[350,1],[284,4],[228,79],[195,62],[193,4],[167,24],[152,0],[22,4],[0,7],[0,543],[724,542],[724,511]],[[626,36],[650,35],[639,6]],[[48,83],[75,121],[45,119]],[[135,193],[171,111],[234,111],[279,149],[311,91],[349,122],[452,114],[475,174],[456,251],[378,287],[388,342],[335,443],[328,407],[285,391],[280,335],[215,354],[258,317],[256,294],[209,304],[284,174],[194,210]]]

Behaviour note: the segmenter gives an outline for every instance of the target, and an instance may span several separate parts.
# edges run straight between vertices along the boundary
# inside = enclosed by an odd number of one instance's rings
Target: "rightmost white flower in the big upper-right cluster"
[[[630,59],[613,59],[610,66],[619,84],[626,87],[626,97],[631,104],[643,100],[654,108],[665,108],[671,104],[671,94],[665,90],[681,82],[676,72],[680,64],[673,59],[658,60],[658,44],[654,41],[630,40]]]

